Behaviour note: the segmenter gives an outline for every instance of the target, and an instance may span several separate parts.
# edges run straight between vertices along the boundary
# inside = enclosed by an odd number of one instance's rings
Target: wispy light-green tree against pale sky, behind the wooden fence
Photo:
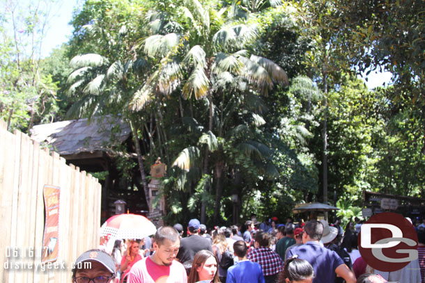
[[[52,1],[3,1],[0,18],[0,115],[9,129],[29,131],[35,121],[56,117],[57,86],[40,72],[40,58]]]

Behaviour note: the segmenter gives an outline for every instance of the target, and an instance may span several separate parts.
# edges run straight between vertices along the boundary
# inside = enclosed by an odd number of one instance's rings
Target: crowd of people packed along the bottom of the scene
[[[293,223],[277,218],[208,230],[199,220],[164,226],[139,241],[116,240],[109,251],[89,250],[77,262],[92,261],[90,270],[76,268],[76,283],[355,283],[424,282],[425,221],[416,227],[419,259],[394,272],[374,270],[362,259],[357,237],[362,221],[346,228],[337,218]],[[77,265],[76,265],[77,266]],[[420,270],[420,271],[419,271]]]

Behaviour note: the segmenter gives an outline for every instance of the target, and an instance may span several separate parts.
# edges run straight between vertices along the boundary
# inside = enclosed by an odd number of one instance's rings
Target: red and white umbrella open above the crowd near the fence
[[[113,238],[145,238],[155,234],[155,225],[144,216],[124,213],[112,216],[100,227],[100,236]]]

